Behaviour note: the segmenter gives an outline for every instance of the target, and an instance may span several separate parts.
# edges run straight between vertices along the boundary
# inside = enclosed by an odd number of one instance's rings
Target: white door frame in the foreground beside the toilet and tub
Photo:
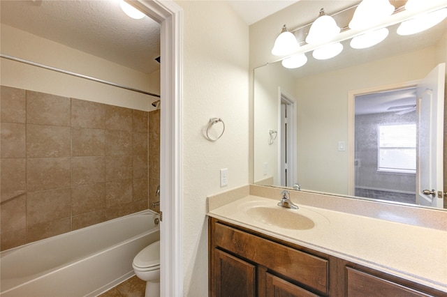
[[[160,293],[183,296],[183,10],[173,0],[126,1],[161,24]]]

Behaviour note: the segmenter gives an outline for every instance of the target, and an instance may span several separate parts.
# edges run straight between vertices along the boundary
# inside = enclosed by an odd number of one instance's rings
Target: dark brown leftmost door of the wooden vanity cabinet
[[[214,296],[255,296],[256,266],[214,249],[214,269]]]

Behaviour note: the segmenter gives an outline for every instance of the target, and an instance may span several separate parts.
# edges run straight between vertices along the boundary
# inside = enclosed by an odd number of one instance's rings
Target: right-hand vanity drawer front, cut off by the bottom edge
[[[354,268],[346,267],[348,277],[348,294],[350,297],[359,296],[432,296],[416,291],[409,287],[402,286],[381,277],[371,275]]]

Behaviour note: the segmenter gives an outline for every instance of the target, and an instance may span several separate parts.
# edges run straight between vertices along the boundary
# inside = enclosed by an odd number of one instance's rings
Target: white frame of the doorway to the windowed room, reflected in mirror
[[[365,89],[357,89],[348,91],[348,195],[355,196],[356,193],[356,173],[354,170],[354,158],[356,156],[356,139],[355,139],[355,121],[356,121],[356,96],[366,95],[369,93],[377,93],[382,91],[393,91],[395,89],[405,89],[416,87],[421,79],[409,82],[398,82],[395,84],[386,84],[381,86],[371,86]]]

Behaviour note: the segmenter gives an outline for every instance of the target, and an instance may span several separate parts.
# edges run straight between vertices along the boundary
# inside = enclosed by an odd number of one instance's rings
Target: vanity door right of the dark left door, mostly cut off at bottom
[[[287,282],[280,277],[267,273],[265,278],[265,295],[267,297],[315,297],[317,295]]]

